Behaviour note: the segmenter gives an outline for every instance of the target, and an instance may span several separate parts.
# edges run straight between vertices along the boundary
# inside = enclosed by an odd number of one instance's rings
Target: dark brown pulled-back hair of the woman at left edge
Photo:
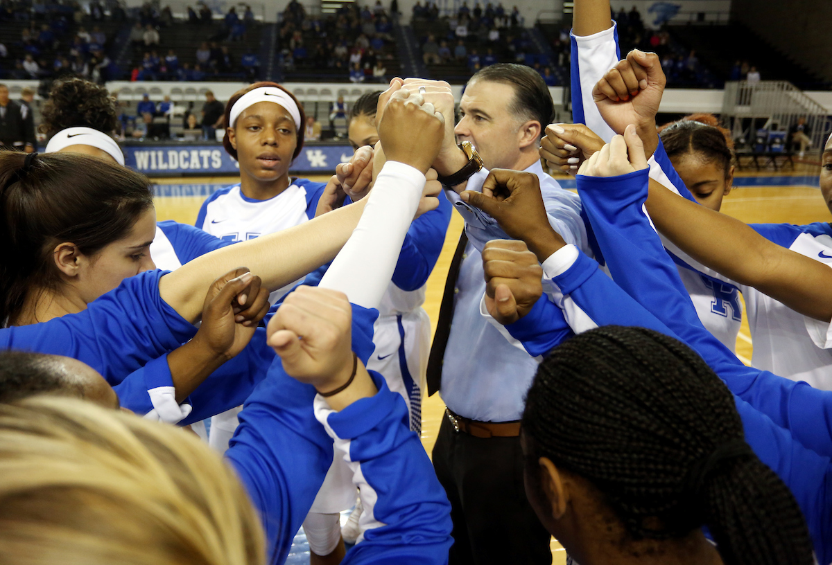
[[[33,288],[57,289],[58,243],[94,255],[152,206],[146,177],[115,163],[0,151],[0,325],[14,321]]]

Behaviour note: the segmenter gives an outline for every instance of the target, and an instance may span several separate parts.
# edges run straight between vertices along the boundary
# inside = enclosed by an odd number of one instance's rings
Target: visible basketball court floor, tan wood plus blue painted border
[[[735,177],[735,189],[723,200],[722,212],[740,219],[746,224],[810,224],[812,222],[832,222],[832,214],[826,208],[818,188],[820,167],[799,164],[795,171],[759,173],[738,173]],[[312,180],[325,182],[329,176],[310,176]],[[562,186],[573,189],[571,177],[557,177]],[[238,182],[234,177],[205,178],[170,178],[154,179],[156,183],[156,216],[158,220],[174,219],[178,222],[193,224],[202,202],[215,189]],[[436,329],[439,305],[445,278],[453,258],[453,250],[462,232],[463,222],[459,214],[453,214],[445,238],[442,255],[428,279],[428,289],[424,309],[431,319],[432,331]],[[715,241],[715,245],[730,245],[730,242]],[[737,339],[737,356],[749,363],[752,344],[748,322],[743,316],[742,329]],[[428,454],[433,450],[433,443],[444,417],[444,405],[438,395],[423,399],[422,402],[422,443]],[[552,538],[552,563],[566,563],[566,552]],[[309,549],[305,536],[295,538],[295,547],[287,562],[289,565],[309,563]]]

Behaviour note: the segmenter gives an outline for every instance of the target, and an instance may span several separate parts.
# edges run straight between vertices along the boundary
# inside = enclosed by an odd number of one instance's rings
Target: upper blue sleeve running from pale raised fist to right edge
[[[646,170],[606,179],[579,176],[578,190],[616,283],[696,349],[732,392],[806,447],[832,456],[832,393],[743,365],[702,326],[642,209]]]

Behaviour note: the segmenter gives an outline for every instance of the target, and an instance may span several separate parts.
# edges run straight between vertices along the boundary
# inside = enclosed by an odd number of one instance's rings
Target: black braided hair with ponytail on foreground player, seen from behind
[[[790,490],[745,445],[734,397],[671,337],[608,326],[558,346],[537,369],[522,430],[527,469],[547,457],[587,479],[632,541],[706,525],[726,565],[814,561]],[[711,459],[691,481],[701,461],[738,443],[744,451]],[[542,493],[539,474],[527,478]]]

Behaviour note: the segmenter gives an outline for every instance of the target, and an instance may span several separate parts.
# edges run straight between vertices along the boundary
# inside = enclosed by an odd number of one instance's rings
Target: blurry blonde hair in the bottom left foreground
[[[41,396],[0,405],[0,563],[264,565],[265,543],[195,436]]]

